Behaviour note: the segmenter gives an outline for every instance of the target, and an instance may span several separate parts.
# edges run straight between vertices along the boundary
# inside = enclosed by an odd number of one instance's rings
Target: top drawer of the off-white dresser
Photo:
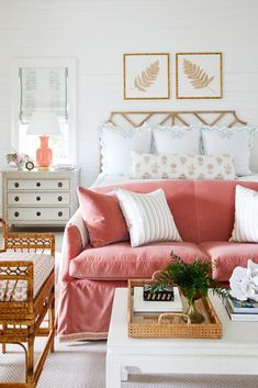
[[[9,179],[8,190],[69,190],[68,179]]]

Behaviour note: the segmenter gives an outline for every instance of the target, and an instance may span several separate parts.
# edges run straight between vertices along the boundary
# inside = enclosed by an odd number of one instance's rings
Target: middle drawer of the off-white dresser
[[[69,192],[8,192],[8,204],[42,206],[42,204],[69,204]]]

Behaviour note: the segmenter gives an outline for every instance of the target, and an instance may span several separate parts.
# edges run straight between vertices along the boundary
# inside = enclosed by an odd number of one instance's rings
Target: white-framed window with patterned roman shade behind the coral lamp
[[[26,134],[30,119],[35,111],[51,111],[61,131],[49,138],[53,164],[76,163],[75,60],[16,59],[12,85],[12,147],[35,158],[40,141]]]

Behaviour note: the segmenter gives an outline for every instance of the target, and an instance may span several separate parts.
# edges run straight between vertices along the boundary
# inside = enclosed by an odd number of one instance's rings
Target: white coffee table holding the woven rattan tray
[[[127,336],[127,289],[115,290],[106,350],[106,388],[120,388],[126,367],[144,374],[258,375],[258,322],[232,322],[217,297],[222,340]]]

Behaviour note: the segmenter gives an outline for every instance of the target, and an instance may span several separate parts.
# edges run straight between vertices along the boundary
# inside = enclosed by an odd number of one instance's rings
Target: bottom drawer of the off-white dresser
[[[68,221],[69,208],[8,208],[10,221]]]

